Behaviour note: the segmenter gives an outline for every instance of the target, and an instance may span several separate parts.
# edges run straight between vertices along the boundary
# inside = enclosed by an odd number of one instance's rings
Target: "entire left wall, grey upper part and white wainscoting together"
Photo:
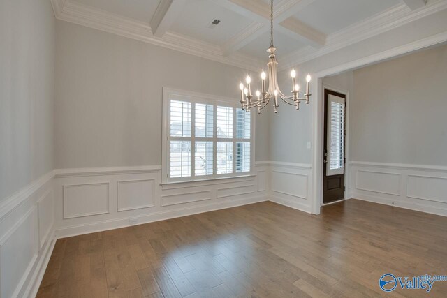
[[[32,297],[54,245],[54,47],[50,1],[0,1],[0,297]]]

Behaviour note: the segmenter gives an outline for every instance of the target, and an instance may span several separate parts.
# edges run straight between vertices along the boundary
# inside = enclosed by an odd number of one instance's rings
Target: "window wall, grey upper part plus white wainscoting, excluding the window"
[[[267,199],[270,173],[161,185],[162,88],[239,100],[247,70],[57,21],[54,179],[57,237]],[[255,159],[268,158],[256,114]]]

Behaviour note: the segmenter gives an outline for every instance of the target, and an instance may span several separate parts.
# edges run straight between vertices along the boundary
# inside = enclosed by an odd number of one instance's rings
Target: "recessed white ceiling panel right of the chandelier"
[[[316,0],[295,17],[318,31],[330,34],[399,3],[400,0]]]

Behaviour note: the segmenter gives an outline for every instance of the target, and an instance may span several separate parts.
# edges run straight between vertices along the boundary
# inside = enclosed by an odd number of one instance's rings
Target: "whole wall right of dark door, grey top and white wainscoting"
[[[354,71],[351,198],[447,215],[447,45]]]

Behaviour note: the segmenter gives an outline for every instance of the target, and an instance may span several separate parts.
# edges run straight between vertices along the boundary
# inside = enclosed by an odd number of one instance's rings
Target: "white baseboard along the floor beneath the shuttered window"
[[[105,230],[113,230],[117,228],[125,228],[131,226],[129,220],[138,218],[138,225],[143,223],[152,223],[154,221],[164,221],[166,219],[177,218],[182,216],[189,216],[193,214],[200,214],[203,212],[216,211],[219,209],[227,209],[232,207],[243,206],[246,204],[254,204],[258,202],[265,202],[267,198],[254,197],[254,198],[243,198],[240,200],[231,200],[228,202],[215,202],[212,204],[207,204],[205,206],[195,206],[187,207],[182,209],[176,209],[172,211],[160,211],[153,214],[147,214],[142,216],[129,216],[124,218],[112,219],[110,221],[98,221],[96,223],[88,223],[85,225],[72,225],[66,228],[61,228],[56,230],[56,237],[65,238],[76,236],[80,234],[89,234],[93,232],[102,232]]]

